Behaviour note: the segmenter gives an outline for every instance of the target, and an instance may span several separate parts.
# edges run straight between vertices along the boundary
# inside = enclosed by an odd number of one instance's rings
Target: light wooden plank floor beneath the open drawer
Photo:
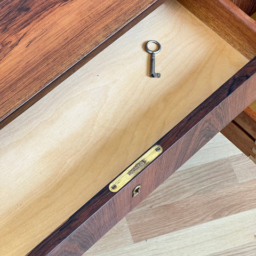
[[[256,255],[256,165],[217,134],[89,255]]]

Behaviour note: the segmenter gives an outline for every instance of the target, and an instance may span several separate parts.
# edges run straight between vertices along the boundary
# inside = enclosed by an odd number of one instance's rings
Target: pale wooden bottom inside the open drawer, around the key
[[[162,45],[149,77],[145,42]],[[24,255],[242,68],[166,1],[0,131],[0,254]]]

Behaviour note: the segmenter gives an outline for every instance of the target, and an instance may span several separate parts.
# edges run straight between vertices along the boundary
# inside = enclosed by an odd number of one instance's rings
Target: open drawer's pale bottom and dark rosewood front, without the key
[[[149,39],[162,45],[161,78],[148,74]],[[256,60],[233,46],[166,1],[3,127],[0,254],[89,249],[256,99]],[[152,149],[148,165],[110,191]]]

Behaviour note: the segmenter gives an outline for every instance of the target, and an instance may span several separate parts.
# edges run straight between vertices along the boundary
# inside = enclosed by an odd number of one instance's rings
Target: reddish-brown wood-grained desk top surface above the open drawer
[[[154,2],[1,3],[0,121]]]

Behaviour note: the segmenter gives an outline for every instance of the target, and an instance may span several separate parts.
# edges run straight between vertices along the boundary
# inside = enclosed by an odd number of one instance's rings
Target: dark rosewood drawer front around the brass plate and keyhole
[[[255,68],[256,58],[157,141],[164,152],[155,162],[118,193],[103,188],[28,255],[81,255],[89,249],[256,98]],[[242,99],[241,105],[236,104],[238,99]],[[138,184],[141,192],[131,197]]]

